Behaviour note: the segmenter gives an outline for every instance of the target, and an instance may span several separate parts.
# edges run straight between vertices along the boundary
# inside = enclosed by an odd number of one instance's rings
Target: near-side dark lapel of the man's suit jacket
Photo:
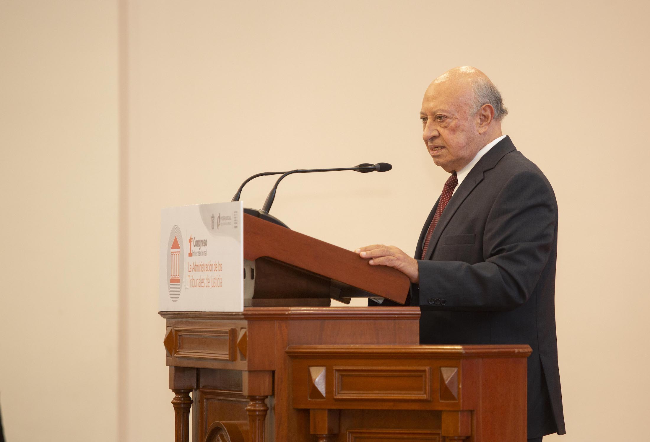
[[[460,187],[456,189],[454,196],[452,196],[451,200],[449,200],[447,203],[447,207],[445,207],[445,211],[443,211],[443,214],[440,216],[438,224],[435,225],[435,229],[431,235],[431,240],[429,241],[429,246],[426,250],[424,259],[431,259],[432,255],[434,254],[435,246],[437,245],[438,240],[443,233],[443,230],[445,230],[445,227],[447,227],[447,224],[454,216],[454,213],[456,213],[458,207],[460,207],[463,201],[465,201],[465,198],[467,198],[472,190],[474,190],[474,187],[483,181],[483,172],[490,170],[496,166],[497,162],[499,162],[500,159],[506,155],[506,153],[512,152],[513,150],[515,150],[515,146],[512,144],[510,136],[506,136],[506,138],[500,140],[500,142],[495,144],[493,148],[489,149],[489,151],[487,151],[487,153],[483,155],[483,157],[478,160],[476,164],[474,164],[472,170],[469,171],[469,174],[467,174],[467,177],[463,179]],[[429,222],[426,224],[426,228],[428,228],[431,222],[431,218],[433,218],[433,215],[430,216]],[[420,247],[422,246],[420,245]],[[420,254],[422,254],[422,252],[420,252]]]

